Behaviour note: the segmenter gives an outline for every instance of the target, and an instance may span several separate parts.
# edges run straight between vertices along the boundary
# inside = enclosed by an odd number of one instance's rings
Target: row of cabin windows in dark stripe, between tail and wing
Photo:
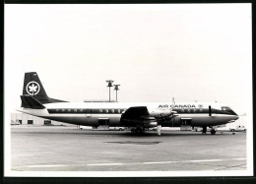
[[[122,113],[124,109],[56,109],[56,112],[79,112],[79,113]]]

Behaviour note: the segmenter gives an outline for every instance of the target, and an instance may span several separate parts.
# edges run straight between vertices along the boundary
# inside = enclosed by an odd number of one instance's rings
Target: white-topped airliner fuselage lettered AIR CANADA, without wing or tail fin
[[[161,122],[162,127],[217,126],[238,119],[236,113],[220,103],[120,103],[120,102],[56,102],[44,109],[23,108],[34,116],[84,126],[124,126],[121,115],[132,106],[147,106],[150,114],[175,112],[175,117]],[[225,109],[227,108],[227,110]]]

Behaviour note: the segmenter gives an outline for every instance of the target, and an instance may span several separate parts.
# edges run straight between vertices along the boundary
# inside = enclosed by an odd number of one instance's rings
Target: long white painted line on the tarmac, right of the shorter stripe
[[[114,166],[114,165],[135,165],[135,164],[166,164],[166,163],[190,163],[190,162],[214,162],[228,160],[245,160],[245,157],[230,159],[199,159],[199,160],[180,160],[180,161],[154,161],[154,162],[133,162],[133,163],[91,163],[88,166]]]

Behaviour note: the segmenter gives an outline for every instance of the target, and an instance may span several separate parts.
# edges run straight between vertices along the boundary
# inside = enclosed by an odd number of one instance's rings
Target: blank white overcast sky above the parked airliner
[[[5,5],[5,97],[24,73],[50,97],[251,104],[251,5]],[[112,91],[112,99],[115,92]]]

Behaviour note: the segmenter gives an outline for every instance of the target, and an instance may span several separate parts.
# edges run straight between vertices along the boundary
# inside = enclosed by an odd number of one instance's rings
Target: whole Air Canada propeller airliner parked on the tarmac
[[[33,116],[83,126],[126,127],[142,133],[155,127],[207,127],[234,122],[238,115],[221,103],[201,102],[68,102],[50,98],[35,72],[25,74],[21,112]]]

